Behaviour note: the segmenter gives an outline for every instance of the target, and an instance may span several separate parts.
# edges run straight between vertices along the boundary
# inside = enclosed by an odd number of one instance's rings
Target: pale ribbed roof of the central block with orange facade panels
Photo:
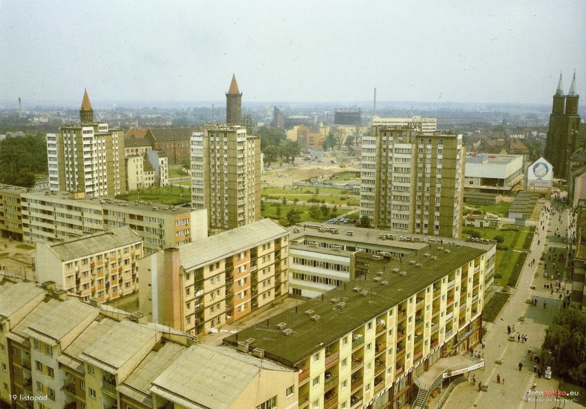
[[[277,239],[287,234],[287,229],[271,219],[261,219],[240,228],[197,239],[179,247],[180,261],[184,269],[194,269],[211,261],[225,258],[244,249]]]

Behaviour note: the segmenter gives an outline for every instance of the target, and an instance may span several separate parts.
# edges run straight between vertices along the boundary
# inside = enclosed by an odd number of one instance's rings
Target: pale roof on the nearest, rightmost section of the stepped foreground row
[[[229,408],[263,369],[290,371],[226,346],[193,345],[170,364],[150,390],[187,408]]]

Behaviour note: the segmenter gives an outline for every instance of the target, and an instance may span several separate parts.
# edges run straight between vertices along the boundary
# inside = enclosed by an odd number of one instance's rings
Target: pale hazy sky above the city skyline
[[[235,73],[244,102],[550,103],[574,69],[586,96],[583,0],[0,3],[0,100],[219,101]]]

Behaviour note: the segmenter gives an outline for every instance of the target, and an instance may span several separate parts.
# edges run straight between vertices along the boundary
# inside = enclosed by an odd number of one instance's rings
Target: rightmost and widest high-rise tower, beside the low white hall
[[[462,135],[373,126],[362,137],[360,215],[398,234],[462,234]]]

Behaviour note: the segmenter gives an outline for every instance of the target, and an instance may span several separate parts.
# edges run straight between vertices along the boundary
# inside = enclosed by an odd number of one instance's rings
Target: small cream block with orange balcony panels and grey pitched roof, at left
[[[128,226],[69,239],[36,244],[37,280],[81,300],[116,300],[138,290],[137,262],[144,255],[142,239]]]

